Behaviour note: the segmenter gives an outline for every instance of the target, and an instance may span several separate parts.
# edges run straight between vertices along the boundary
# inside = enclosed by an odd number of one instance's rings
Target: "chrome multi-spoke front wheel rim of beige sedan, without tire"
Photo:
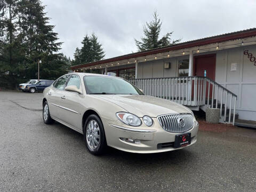
[[[91,149],[96,149],[100,143],[100,127],[93,119],[86,126],[86,141]]]

